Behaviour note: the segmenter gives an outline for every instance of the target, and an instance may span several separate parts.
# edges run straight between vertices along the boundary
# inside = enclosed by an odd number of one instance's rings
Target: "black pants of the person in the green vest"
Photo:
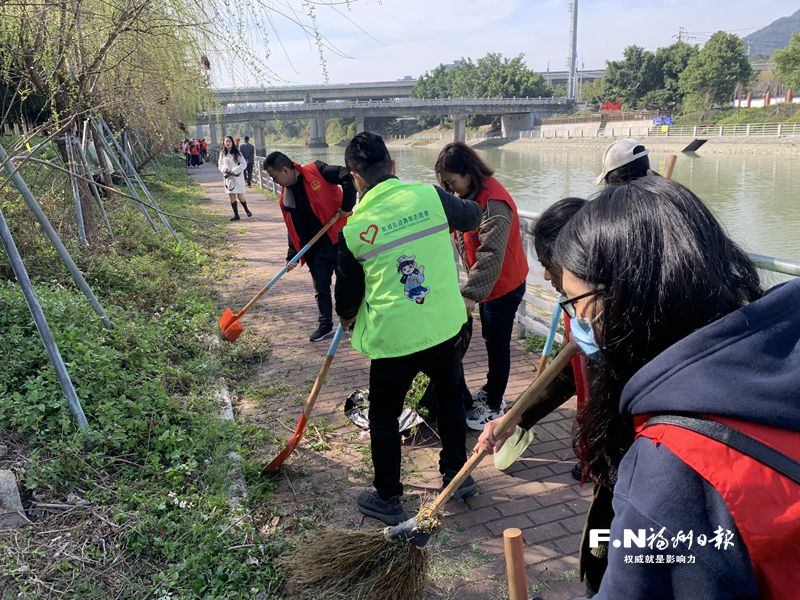
[[[464,378],[461,366],[461,337],[396,358],[381,358],[369,368],[369,430],[373,485],[384,500],[403,494],[400,482],[400,432],[397,419],[403,401],[417,373],[423,372],[436,384],[439,401],[439,472],[455,475],[467,460],[467,429],[459,382]]]

